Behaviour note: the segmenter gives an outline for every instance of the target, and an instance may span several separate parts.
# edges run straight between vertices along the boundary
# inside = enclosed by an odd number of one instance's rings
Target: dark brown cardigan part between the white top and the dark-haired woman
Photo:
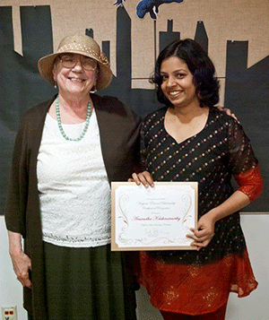
[[[100,129],[108,180],[127,181],[139,170],[141,117],[115,97],[91,95]]]

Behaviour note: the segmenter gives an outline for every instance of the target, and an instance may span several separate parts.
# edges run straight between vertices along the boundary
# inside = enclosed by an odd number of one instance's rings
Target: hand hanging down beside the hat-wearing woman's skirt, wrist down
[[[24,252],[19,252],[16,254],[10,254],[13,262],[13,269],[16,273],[17,280],[22,283],[23,287],[31,289],[30,281],[30,270],[31,270],[31,261],[28,255],[25,255]]]

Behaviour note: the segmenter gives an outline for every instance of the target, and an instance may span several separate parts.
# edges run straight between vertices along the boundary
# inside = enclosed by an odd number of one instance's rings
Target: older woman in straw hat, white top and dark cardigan
[[[90,93],[112,73],[88,36],[63,39],[39,72],[58,94],[22,119],[5,215],[24,307],[38,320],[135,319],[129,260],[110,252],[109,182],[131,176],[141,119]]]

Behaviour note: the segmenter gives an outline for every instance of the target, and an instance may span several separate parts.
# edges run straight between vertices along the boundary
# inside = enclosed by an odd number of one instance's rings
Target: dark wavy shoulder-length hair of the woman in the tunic
[[[159,102],[168,107],[173,107],[169,99],[161,91],[161,63],[164,59],[177,56],[183,60],[194,77],[196,95],[200,102],[200,107],[212,108],[219,102],[219,81],[215,76],[215,67],[212,60],[203,48],[192,39],[177,40],[169,44],[158,56],[151,83],[157,84],[157,98]]]

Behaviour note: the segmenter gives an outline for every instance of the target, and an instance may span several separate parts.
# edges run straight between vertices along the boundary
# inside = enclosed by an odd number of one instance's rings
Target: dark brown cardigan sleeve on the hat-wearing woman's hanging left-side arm
[[[29,199],[33,198],[29,190],[35,188],[35,186],[30,186],[30,172],[33,171],[30,167],[30,157],[35,158],[31,154],[31,149],[35,146],[37,152],[39,150],[48,108],[55,98],[43,101],[25,113],[14,143],[4,218],[6,229],[22,234],[23,238],[25,238],[27,229],[26,212],[29,207]]]

